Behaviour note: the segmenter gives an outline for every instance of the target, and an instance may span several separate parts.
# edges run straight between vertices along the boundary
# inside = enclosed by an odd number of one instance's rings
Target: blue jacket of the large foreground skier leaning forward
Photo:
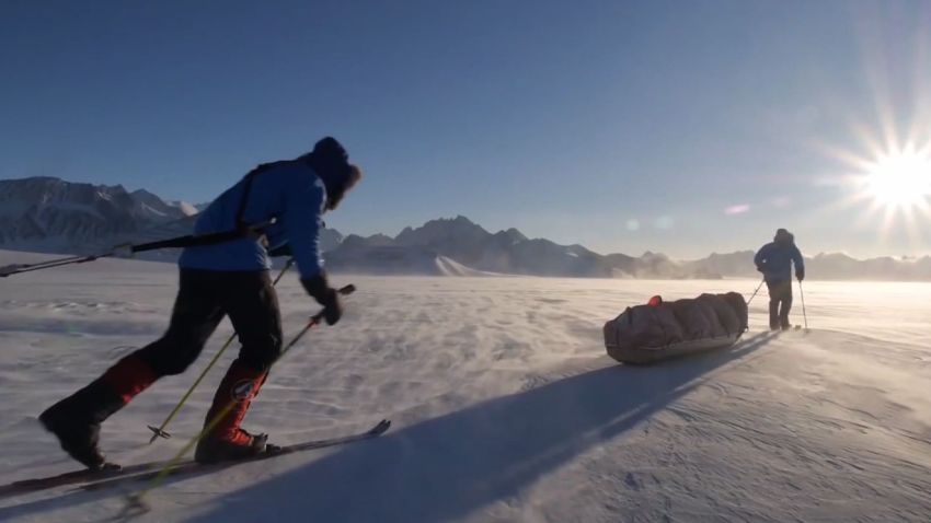
[[[199,216],[195,234],[223,232],[237,228],[245,177],[214,200]],[[300,160],[279,162],[256,173],[249,190],[242,220],[249,224],[276,218],[265,229],[267,248],[289,244],[301,278],[323,270],[320,257],[321,217],[325,210],[326,187],[313,168]],[[242,239],[215,245],[187,247],[177,262],[187,269],[266,270],[268,253],[261,240]]]

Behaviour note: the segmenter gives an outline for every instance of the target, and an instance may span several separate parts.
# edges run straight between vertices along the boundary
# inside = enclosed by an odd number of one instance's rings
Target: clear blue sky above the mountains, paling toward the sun
[[[5,0],[0,178],[204,201],[333,135],[367,173],[344,232],[928,254],[838,151],[931,140],[929,27],[919,1]]]

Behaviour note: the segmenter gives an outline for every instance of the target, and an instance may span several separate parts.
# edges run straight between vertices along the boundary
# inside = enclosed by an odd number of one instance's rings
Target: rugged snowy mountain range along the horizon
[[[0,181],[0,248],[92,254],[113,245],[189,234],[205,205],[165,201],[147,190],[65,182],[54,177]],[[529,239],[516,229],[492,233],[465,217],[405,228],[395,237],[323,233],[327,266],[335,271],[400,275],[529,275],[597,278],[716,279],[759,276],[754,252],[712,254],[676,262],[663,254],[602,255],[582,245]],[[172,251],[148,259],[172,260]],[[843,254],[807,258],[819,279],[931,280],[931,257],[867,260]]]

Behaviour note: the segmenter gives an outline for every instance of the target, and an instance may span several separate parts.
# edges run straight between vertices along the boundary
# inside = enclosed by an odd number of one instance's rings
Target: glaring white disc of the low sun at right
[[[863,182],[886,209],[924,208],[931,196],[931,155],[916,150],[887,154],[869,166]]]

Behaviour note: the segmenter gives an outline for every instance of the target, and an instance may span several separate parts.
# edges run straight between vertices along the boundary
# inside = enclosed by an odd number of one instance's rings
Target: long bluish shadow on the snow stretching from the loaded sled
[[[465,516],[630,430],[698,386],[698,377],[770,339],[758,334],[727,350],[662,365],[612,364],[490,399],[231,492],[192,521],[416,523]],[[101,493],[3,508],[0,521],[99,501]]]

